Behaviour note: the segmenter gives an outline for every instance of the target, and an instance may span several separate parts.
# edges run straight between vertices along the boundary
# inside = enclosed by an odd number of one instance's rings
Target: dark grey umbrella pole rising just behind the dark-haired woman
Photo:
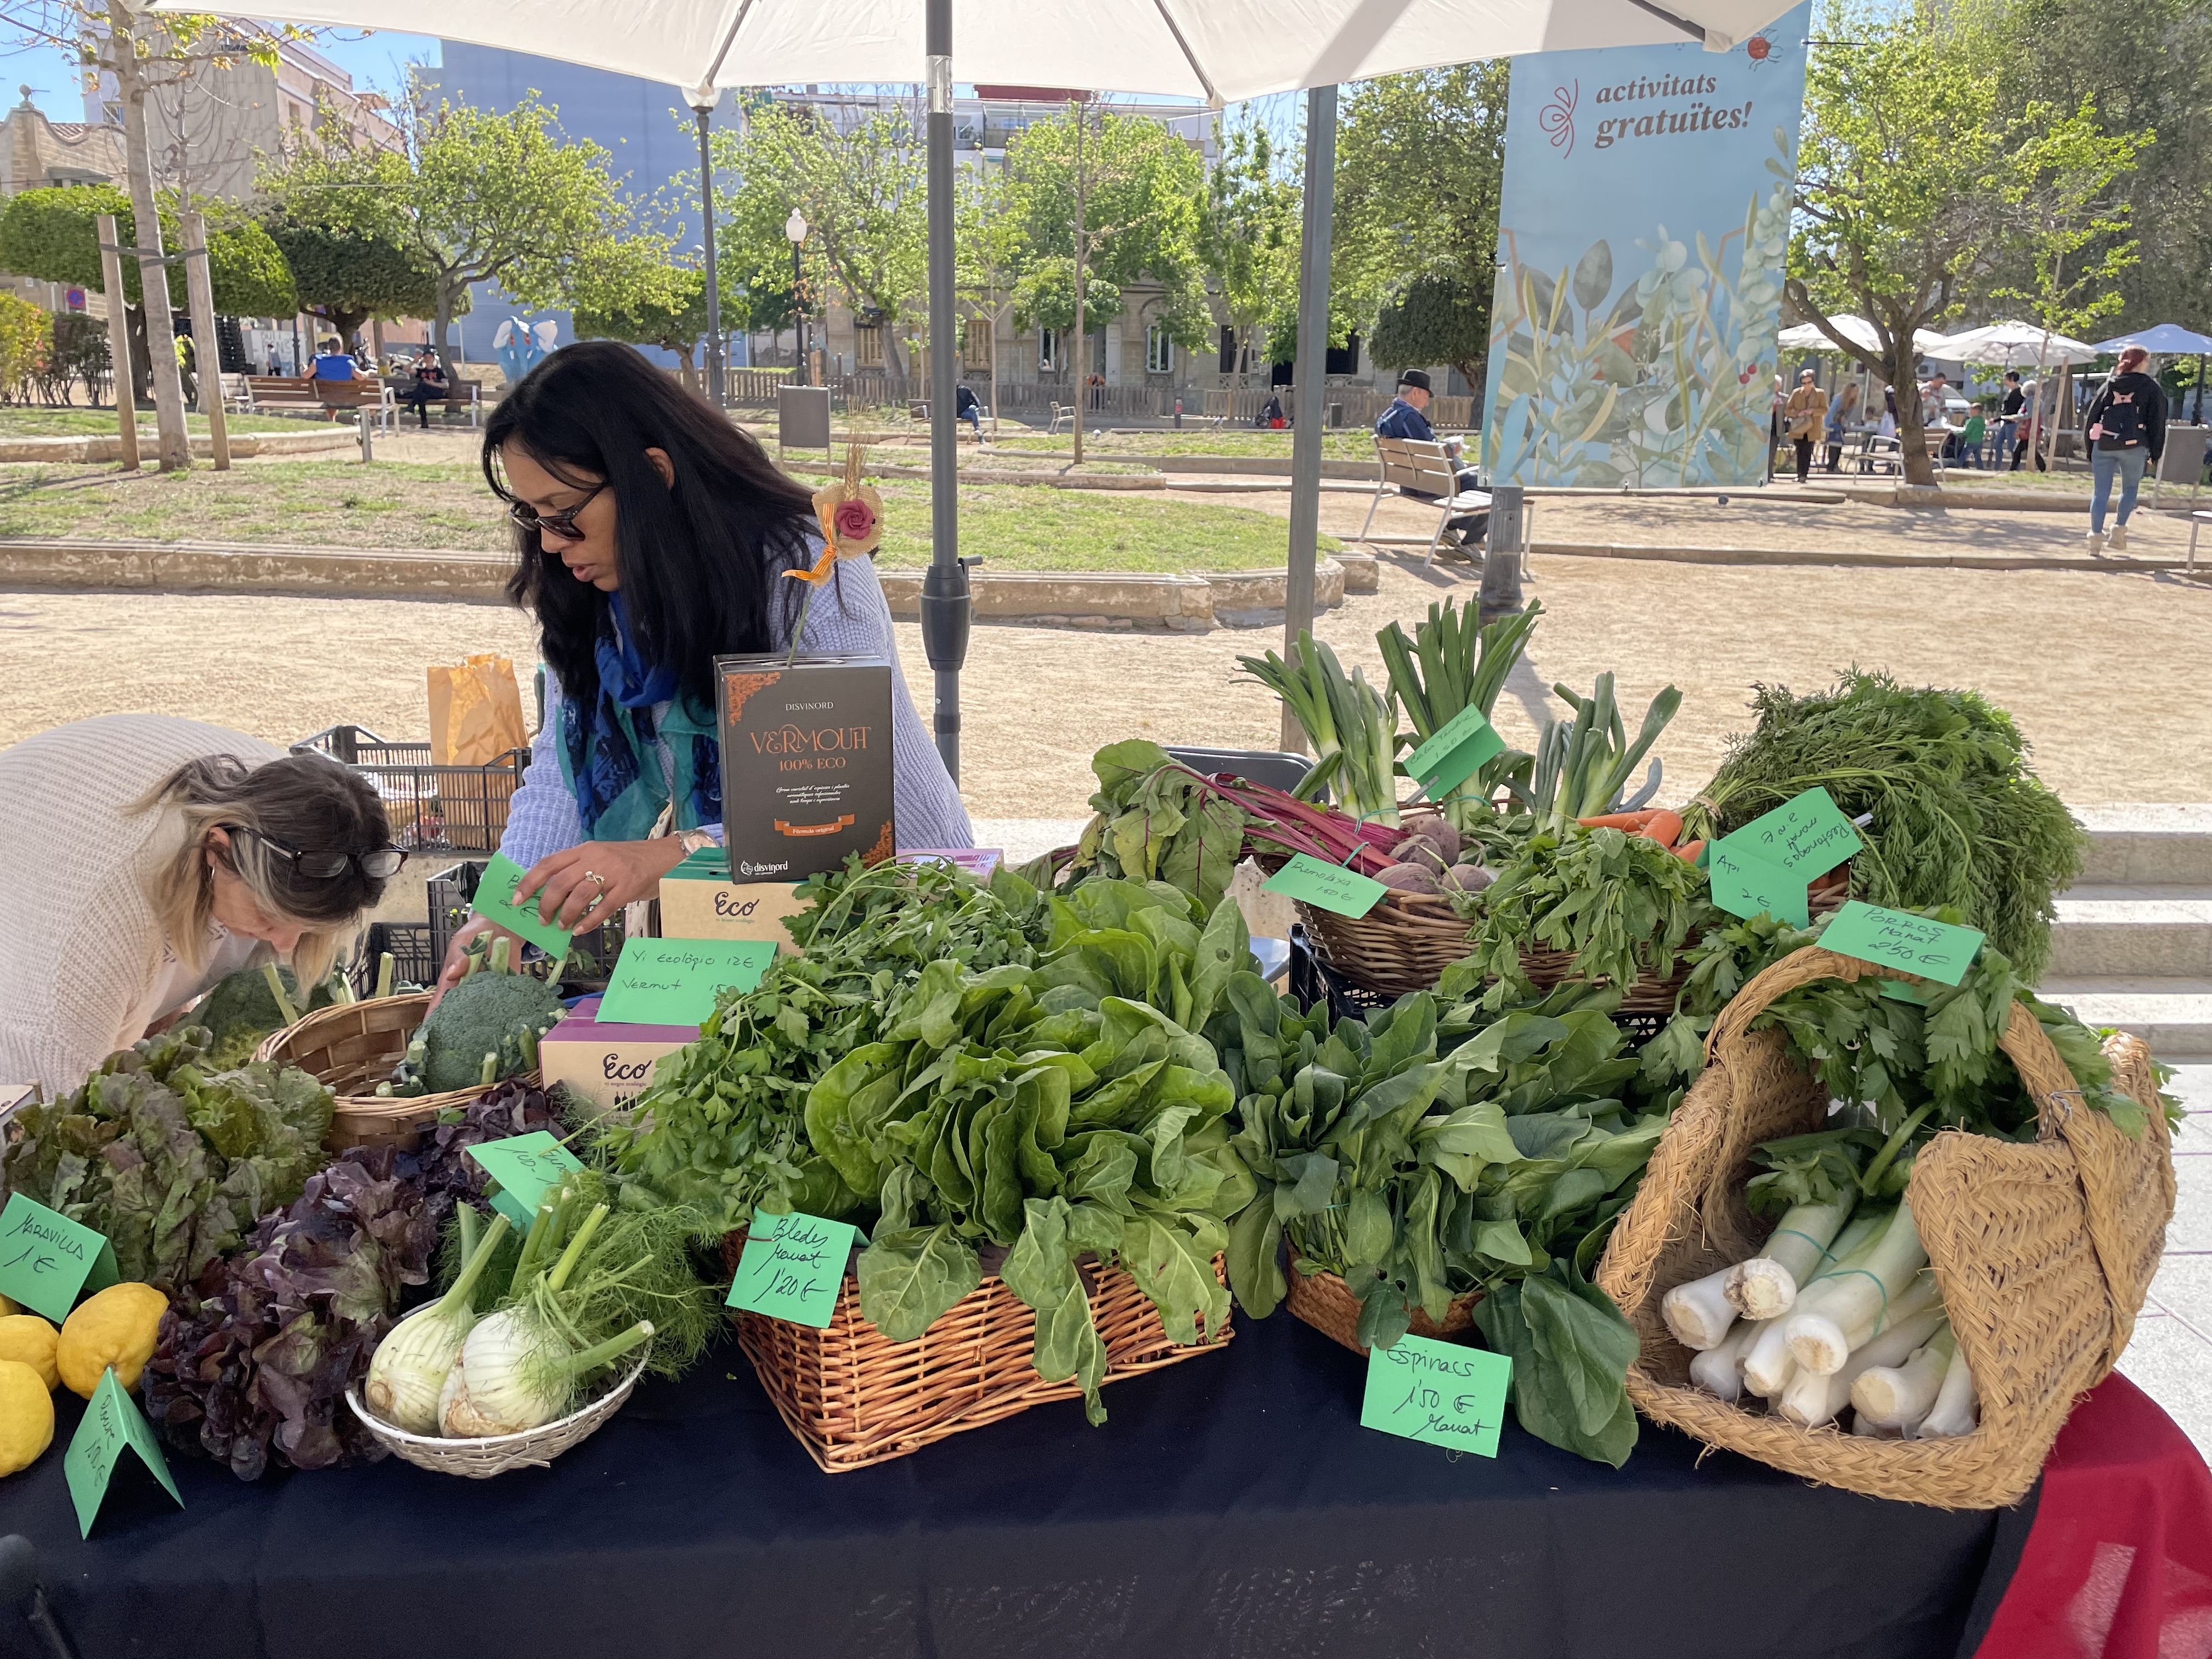
[[[960,562],[960,440],[953,429],[953,4],[929,0],[929,573],[922,655],[938,679],[938,754],[960,783],[960,666],[969,639],[969,577]]]

